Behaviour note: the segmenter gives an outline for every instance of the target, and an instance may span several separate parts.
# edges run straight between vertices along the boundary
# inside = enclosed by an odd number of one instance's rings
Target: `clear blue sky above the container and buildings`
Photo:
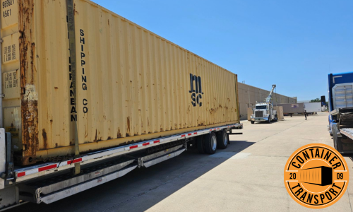
[[[353,71],[352,0],[93,0],[238,74],[311,100],[327,74]]]

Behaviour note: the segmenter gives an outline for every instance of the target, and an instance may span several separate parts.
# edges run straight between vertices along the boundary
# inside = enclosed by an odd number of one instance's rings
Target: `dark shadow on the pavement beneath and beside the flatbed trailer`
[[[253,142],[231,141],[215,155],[202,155],[190,149],[176,158],[149,168],[129,172],[124,177],[70,196],[54,204],[25,204],[13,211],[145,211],[217,167]],[[177,203],[176,203],[177,204]],[[7,211],[6,211],[7,212]]]

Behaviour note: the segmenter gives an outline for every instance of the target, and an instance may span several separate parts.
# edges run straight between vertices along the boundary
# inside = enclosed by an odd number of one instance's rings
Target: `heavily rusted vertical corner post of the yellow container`
[[[22,153],[21,165],[35,163],[36,152],[39,150],[38,132],[38,102],[35,91],[35,40],[32,35],[34,25],[34,0],[19,1],[18,31],[20,33],[20,86],[25,91],[21,93],[22,142],[25,149]],[[30,89],[26,89],[30,88]],[[45,132],[45,131],[44,131]],[[43,136],[46,133],[43,133]],[[45,144],[44,139],[44,146]]]

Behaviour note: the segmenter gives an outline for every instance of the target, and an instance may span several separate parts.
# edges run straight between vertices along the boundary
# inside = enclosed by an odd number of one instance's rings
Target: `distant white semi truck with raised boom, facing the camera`
[[[271,123],[271,121],[277,121],[277,111],[273,110],[273,104],[271,102],[275,88],[276,85],[273,85],[265,102],[256,102],[256,109],[254,110],[254,114],[251,115],[251,124],[255,124],[255,122]]]

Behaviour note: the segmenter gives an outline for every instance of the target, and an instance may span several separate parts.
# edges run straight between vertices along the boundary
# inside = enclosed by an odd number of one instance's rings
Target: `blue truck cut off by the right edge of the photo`
[[[353,153],[353,72],[328,75],[328,131],[340,153]]]

